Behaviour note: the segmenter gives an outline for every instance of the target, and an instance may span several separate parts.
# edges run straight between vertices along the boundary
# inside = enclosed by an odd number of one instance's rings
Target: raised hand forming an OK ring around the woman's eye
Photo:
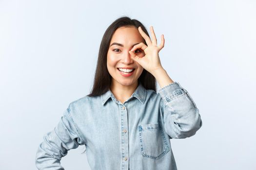
[[[135,45],[131,49],[131,51],[129,51],[129,53],[131,54],[133,60],[138,62],[139,65],[141,65],[148,72],[153,74],[154,71],[162,68],[158,52],[164,47],[163,34],[161,35],[161,44],[157,46],[157,38],[154,33],[153,26],[150,27],[152,41],[150,37],[141,29],[141,27],[138,27],[138,31],[141,34],[141,36],[145,39],[148,46],[141,42]],[[137,49],[142,49],[145,53],[145,56],[139,57],[138,55],[136,55],[134,51],[136,51]]]

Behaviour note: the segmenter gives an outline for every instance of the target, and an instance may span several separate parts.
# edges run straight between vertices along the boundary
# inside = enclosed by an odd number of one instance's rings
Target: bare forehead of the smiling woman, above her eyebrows
[[[113,34],[110,43],[117,42],[125,46],[143,41],[144,39],[136,27],[120,27]]]

